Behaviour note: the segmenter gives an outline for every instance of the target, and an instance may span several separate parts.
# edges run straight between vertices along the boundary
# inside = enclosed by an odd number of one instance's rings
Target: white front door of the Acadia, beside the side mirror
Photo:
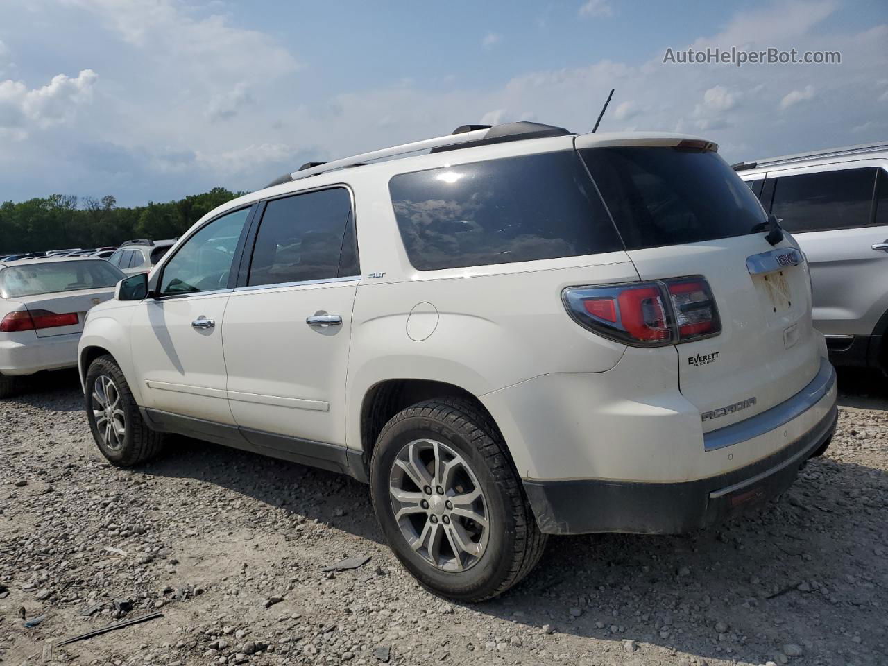
[[[250,209],[202,226],[161,268],[157,296],[135,308],[132,358],[143,407],[234,424],[226,397],[222,321]]]

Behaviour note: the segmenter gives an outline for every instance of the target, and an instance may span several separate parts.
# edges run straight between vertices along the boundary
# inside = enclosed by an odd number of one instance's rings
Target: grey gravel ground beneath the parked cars
[[[886,664],[888,386],[840,385],[827,456],[765,509],[551,539],[524,583],[462,606],[398,566],[361,484],[181,438],[117,470],[75,374],[45,377],[0,401],[0,662]]]

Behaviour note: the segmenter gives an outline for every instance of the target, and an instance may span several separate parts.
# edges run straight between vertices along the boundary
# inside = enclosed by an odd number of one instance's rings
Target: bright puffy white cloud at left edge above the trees
[[[23,139],[31,127],[71,122],[77,108],[91,102],[98,78],[91,69],[83,69],[75,78],[55,75],[50,83],[34,89],[20,81],[0,82],[0,129],[15,129],[16,137]]]

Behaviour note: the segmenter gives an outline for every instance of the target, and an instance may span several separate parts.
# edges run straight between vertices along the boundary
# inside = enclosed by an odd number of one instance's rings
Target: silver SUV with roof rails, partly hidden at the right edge
[[[733,168],[805,252],[830,360],[888,371],[888,142]]]

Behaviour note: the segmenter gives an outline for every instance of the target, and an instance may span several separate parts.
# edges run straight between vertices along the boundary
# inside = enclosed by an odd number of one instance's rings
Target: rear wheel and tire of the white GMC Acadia
[[[435,460],[441,470],[453,472],[435,472]],[[435,487],[419,488],[417,475]],[[480,497],[465,503],[476,490]],[[442,597],[463,602],[497,597],[543,554],[547,537],[536,526],[505,442],[490,417],[468,400],[426,400],[393,416],[373,451],[370,492],[395,556],[426,590]]]

